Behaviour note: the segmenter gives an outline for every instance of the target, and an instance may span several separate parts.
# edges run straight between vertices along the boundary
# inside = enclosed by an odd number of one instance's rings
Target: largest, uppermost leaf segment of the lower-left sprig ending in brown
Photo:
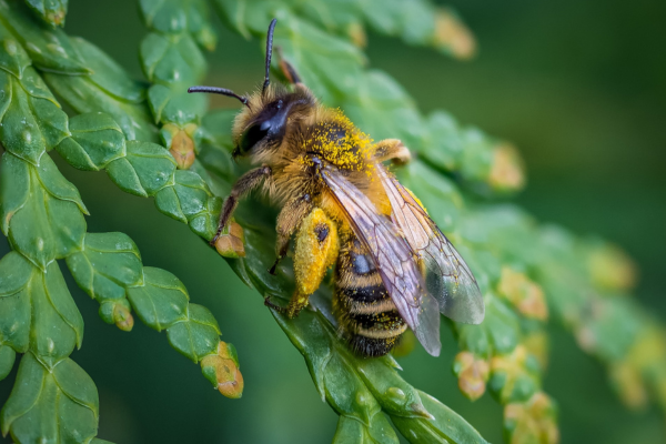
[[[67,258],[79,286],[99,300],[122,299],[125,287],[142,283],[141,255],[123,233],[89,233],[83,250]]]

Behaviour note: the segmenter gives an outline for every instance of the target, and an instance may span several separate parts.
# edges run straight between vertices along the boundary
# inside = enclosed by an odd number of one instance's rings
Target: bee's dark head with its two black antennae
[[[248,98],[224,88],[192,87],[188,90],[188,92],[212,92],[233,97],[246,107],[238,115],[233,128],[234,150],[232,155],[234,158],[255,154],[280,145],[286,132],[290,115],[304,107],[314,104],[314,99],[305,90],[287,92],[283,88],[270,87],[269,71],[275,22],[276,20],[273,19],[269,27],[265,77],[260,92]]]

